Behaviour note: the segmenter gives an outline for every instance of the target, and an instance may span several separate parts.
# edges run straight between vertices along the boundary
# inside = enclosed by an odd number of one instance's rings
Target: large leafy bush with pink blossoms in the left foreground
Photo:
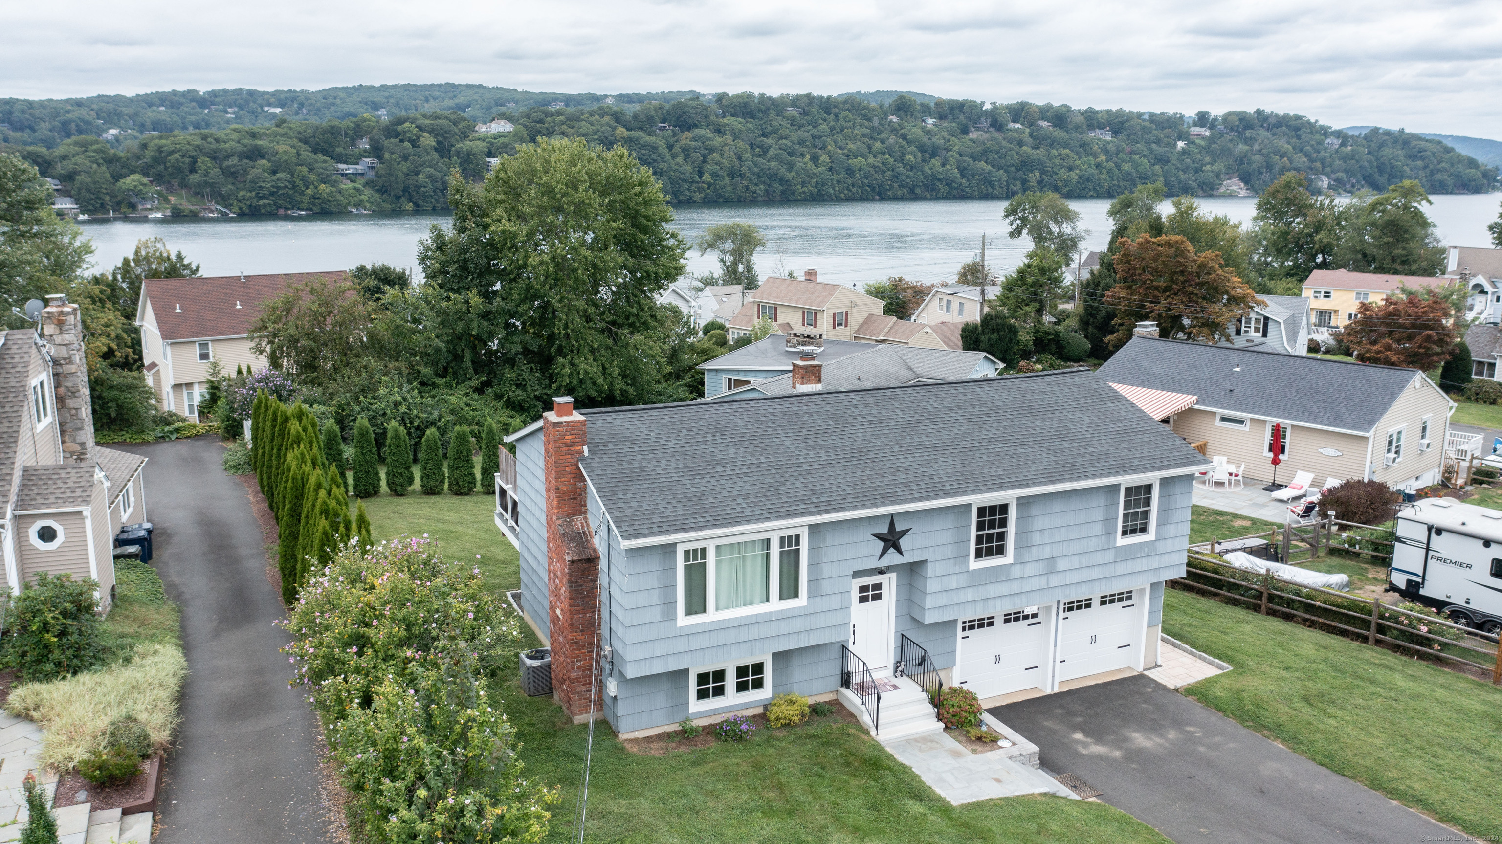
[[[365,836],[541,841],[556,788],[521,776],[515,730],[487,694],[515,668],[518,616],[479,568],[427,539],[357,541],[311,577],[285,622]]]

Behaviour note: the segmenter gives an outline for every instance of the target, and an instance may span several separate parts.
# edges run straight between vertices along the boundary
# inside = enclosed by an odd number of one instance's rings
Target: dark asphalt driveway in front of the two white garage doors
[[[1044,767],[1080,776],[1104,791],[1102,802],[1175,841],[1455,835],[1140,674],[988,712],[1036,743]]]

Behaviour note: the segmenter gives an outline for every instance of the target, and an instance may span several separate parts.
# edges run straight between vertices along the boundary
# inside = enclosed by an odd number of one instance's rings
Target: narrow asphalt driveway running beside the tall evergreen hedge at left
[[[278,649],[281,599],[266,580],[246,490],[213,437],[111,446],[150,458],[153,568],[182,607],[188,682],[158,800],[158,844],[324,841],[317,721]]]

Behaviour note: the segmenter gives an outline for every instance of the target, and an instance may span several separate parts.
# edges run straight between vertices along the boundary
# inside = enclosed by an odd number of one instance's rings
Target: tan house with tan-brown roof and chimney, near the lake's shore
[[[817,270],[805,270],[804,281],[768,278],[745,296],[746,303],[727,323],[731,341],[749,336],[762,318],[772,320],[780,333],[855,339],[856,326],[885,305],[841,284],[820,284]]]

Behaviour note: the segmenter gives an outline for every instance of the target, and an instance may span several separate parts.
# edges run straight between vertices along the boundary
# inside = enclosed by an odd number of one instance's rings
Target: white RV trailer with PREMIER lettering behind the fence
[[[1502,631],[1502,511],[1421,499],[1398,511],[1388,590],[1457,625]]]

